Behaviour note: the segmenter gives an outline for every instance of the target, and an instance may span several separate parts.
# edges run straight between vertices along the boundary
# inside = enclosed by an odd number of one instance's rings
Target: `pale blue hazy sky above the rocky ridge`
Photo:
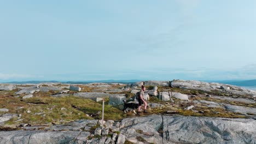
[[[256,79],[256,1],[1,1],[0,82]]]

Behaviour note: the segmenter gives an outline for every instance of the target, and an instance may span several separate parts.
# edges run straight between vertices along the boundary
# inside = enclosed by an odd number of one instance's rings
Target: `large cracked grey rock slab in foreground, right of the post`
[[[149,116],[123,119],[121,123],[120,133],[129,141],[141,136],[148,143],[256,142],[254,119]]]

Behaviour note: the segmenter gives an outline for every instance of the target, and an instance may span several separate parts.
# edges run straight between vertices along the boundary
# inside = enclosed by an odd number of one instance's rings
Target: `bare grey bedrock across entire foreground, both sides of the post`
[[[97,137],[86,131],[97,123],[80,120],[52,130],[0,131],[0,143],[256,143],[254,119],[159,115],[125,118],[108,125],[110,131],[119,131],[112,139],[98,131]],[[119,129],[114,129],[117,123]]]

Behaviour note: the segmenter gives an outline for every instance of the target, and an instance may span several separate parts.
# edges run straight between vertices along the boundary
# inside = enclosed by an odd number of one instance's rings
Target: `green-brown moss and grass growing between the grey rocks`
[[[79,85],[82,87],[82,92],[92,92],[97,88],[91,88],[84,85]],[[121,88],[120,85],[114,85],[111,88]],[[153,87],[148,86],[148,89]],[[91,99],[83,99],[78,97],[73,97],[72,94],[75,92],[69,92],[69,97],[55,98],[50,97],[49,95],[56,94],[57,91],[49,92],[36,92],[33,94],[33,98],[22,99],[26,94],[21,94],[19,98],[15,98],[14,91],[0,91],[0,109],[8,109],[8,113],[17,113],[21,114],[20,119],[14,117],[5,124],[9,125],[19,125],[20,123],[29,123],[31,125],[51,125],[53,124],[62,124],[71,122],[77,119],[101,119],[102,118],[102,102],[96,102]],[[158,91],[172,91],[180,92],[183,94],[194,94],[198,97],[190,98],[190,100],[208,100],[214,101],[216,103],[226,103],[231,105],[247,106],[247,107],[256,107],[256,104],[245,104],[237,101],[228,101],[222,99],[214,99],[208,97],[200,97],[200,95],[205,94],[204,91],[199,91],[195,89],[181,89],[181,88],[171,88],[171,87],[159,87]],[[217,92],[216,92],[217,93]],[[124,92],[126,99],[132,98],[134,94],[130,92]],[[225,111],[222,108],[212,108],[207,107],[206,105],[194,104],[193,101],[187,102],[179,99],[174,99],[174,103],[171,101],[161,101],[157,97],[150,97],[149,103],[158,103],[164,105],[161,108],[150,109],[149,113],[145,115],[152,114],[163,114],[166,115],[167,111],[176,111],[175,114],[184,115],[184,116],[207,116],[207,117],[245,117],[240,115],[241,113],[234,113]],[[127,117],[135,117],[133,112],[124,113],[121,111],[120,107],[108,105],[108,98],[105,98],[105,107],[104,107],[104,120],[120,120]],[[185,107],[194,105],[192,110],[184,110]],[[63,109],[65,108],[65,109]],[[61,110],[62,109],[62,110]],[[28,113],[28,111],[31,111]],[[202,112],[203,111],[203,112]],[[1,112],[0,115],[7,113]],[[87,115],[89,116],[87,116]],[[252,113],[249,113],[252,115]]]

